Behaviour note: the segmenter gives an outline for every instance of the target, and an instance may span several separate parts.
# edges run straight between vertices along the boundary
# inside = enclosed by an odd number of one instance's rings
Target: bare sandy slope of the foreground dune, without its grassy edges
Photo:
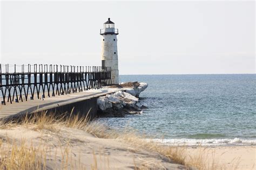
[[[185,169],[185,166],[173,164],[158,153],[118,139],[97,138],[78,129],[36,130],[33,126],[17,126],[0,130],[0,137],[2,148],[10,146],[8,143],[19,146],[23,142],[28,147],[32,144],[38,148],[38,156],[45,156],[48,169]]]

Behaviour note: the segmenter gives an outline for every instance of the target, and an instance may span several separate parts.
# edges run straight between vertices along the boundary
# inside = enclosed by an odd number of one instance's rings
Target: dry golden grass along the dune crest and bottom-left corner
[[[200,154],[198,157],[189,157],[186,154],[186,147],[167,147],[159,145],[158,143],[146,141],[143,136],[131,130],[124,130],[117,132],[110,130],[106,126],[99,124],[97,121],[89,121],[87,116],[62,114],[56,115],[44,112],[36,115],[26,115],[20,121],[10,121],[1,123],[0,129],[13,128],[15,126],[22,126],[35,131],[49,130],[58,131],[62,127],[71,129],[84,130],[98,138],[111,138],[131,144],[130,150],[144,149],[151,152],[156,152],[163,159],[168,159],[170,162],[185,165],[187,169],[194,167],[197,169],[216,169],[215,162],[209,165],[207,158]],[[20,145],[13,142],[7,142],[8,146],[2,147],[3,140],[1,141],[0,150],[0,168],[2,169],[45,169],[46,168],[46,152],[44,147],[26,146],[25,140]],[[202,151],[203,152],[203,151]],[[62,148],[62,167],[65,168],[69,162],[72,162],[72,157],[69,154],[69,147]],[[150,164],[150,162],[148,162]],[[147,169],[149,165],[145,164],[138,169]],[[152,165],[150,165],[152,166]],[[157,165],[156,165],[157,166]],[[238,166],[238,165],[237,165]],[[233,169],[236,169],[235,166]],[[79,169],[83,169],[78,165]],[[134,162],[134,167],[137,165]],[[97,159],[92,162],[92,169],[97,169]],[[218,169],[225,169],[218,167]]]

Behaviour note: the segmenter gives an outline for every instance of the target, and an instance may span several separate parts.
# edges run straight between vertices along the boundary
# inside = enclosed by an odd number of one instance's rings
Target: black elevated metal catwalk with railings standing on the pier
[[[64,65],[0,65],[2,104],[110,86],[111,68]]]

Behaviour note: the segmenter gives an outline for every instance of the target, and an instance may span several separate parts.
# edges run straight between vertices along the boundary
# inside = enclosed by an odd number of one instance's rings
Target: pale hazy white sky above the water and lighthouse
[[[254,1],[1,1],[1,63],[100,66],[109,17],[120,74],[256,72]]]

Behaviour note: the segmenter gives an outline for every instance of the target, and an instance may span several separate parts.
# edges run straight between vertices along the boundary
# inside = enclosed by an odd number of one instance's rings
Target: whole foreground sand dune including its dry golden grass
[[[187,147],[162,146],[78,115],[45,112],[0,127],[2,169],[225,169],[205,150],[188,154]]]

